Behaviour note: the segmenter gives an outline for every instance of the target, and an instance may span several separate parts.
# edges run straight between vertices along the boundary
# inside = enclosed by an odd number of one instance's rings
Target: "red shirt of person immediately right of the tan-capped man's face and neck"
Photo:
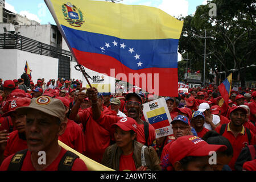
[[[74,121],[68,119],[67,128],[59,137],[59,140],[77,152],[84,154],[85,142],[81,127]]]

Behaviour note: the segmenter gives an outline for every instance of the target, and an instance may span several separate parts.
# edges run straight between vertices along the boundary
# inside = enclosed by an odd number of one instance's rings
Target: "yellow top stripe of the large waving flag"
[[[183,27],[183,21],[155,7],[88,0],[45,2],[60,25],[120,39],[179,39]],[[72,19],[64,4],[75,6],[81,27],[69,24]]]

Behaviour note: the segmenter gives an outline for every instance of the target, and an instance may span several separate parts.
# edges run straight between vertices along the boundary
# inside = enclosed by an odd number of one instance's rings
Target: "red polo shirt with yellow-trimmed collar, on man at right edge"
[[[230,127],[229,127],[230,123],[231,122],[228,123],[222,136],[226,137],[229,140],[229,142],[232,144],[233,158],[230,160],[228,165],[232,170],[235,170],[234,164],[236,163],[236,160],[237,160],[238,156],[240,155],[242,148],[245,147],[246,143],[248,144],[249,141],[248,141],[248,136],[247,136],[244,126],[243,126],[241,133],[238,134],[237,137],[234,137],[234,134],[232,133],[232,131],[230,130]],[[217,131],[217,133],[220,133],[220,129],[221,129],[221,125],[216,127],[215,130]],[[256,144],[255,135],[251,131],[250,131],[250,133],[251,133],[251,143],[250,144]]]

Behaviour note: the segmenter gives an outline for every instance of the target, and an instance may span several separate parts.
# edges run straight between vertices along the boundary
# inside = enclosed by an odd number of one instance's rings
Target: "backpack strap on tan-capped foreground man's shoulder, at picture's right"
[[[60,160],[58,171],[71,171],[75,160],[79,158],[78,155],[71,151],[67,151]]]

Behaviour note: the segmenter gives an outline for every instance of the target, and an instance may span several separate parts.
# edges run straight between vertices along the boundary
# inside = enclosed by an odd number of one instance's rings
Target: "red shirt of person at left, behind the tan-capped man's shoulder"
[[[8,156],[26,148],[27,140],[24,137],[24,134],[19,134],[18,130],[15,130],[9,135],[3,156],[7,158]]]

